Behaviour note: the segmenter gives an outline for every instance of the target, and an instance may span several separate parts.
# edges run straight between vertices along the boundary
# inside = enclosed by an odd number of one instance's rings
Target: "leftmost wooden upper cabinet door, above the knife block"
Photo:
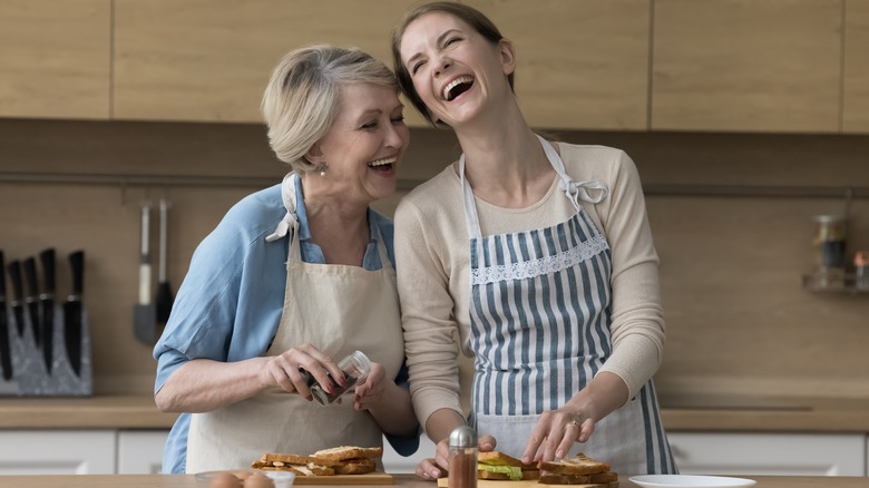
[[[0,117],[108,119],[110,0],[0,2]]]

